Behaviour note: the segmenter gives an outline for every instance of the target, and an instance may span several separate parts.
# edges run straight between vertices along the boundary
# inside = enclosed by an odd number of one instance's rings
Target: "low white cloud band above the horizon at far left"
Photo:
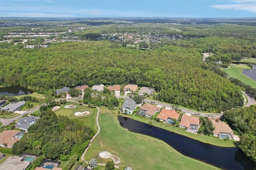
[[[1,12],[1,16],[12,17],[76,17],[73,14],[49,14],[41,12]]]

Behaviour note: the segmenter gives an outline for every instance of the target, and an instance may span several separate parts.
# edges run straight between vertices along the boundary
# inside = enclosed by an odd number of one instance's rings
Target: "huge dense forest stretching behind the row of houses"
[[[56,43],[46,49],[7,46],[0,49],[4,86],[46,93],[63,86],[132,83],[154,87],[160,101],[218,112],[244,101],[240,87],[202,61],[199,48],[166,45],[141,51],[109,41]]]

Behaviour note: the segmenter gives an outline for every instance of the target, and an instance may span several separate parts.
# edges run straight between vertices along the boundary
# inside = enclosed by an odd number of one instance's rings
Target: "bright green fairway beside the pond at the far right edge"
[[[256,81],[248,77],[247,75],[242,73],[242,69],[250,69],[250,67],[246,65],[229,65],[230,69],[224,69],[222,68],[222,71],[226,71],[228,73],[229,77],[234,77],[242,81],[243,83],[246,83],[248,85],[251,85],[253,88],[256,88]]]

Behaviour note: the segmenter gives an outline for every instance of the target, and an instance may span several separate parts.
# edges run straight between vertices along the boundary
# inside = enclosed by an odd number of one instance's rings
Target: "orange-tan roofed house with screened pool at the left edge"
[[[25,133],[18,130],[4,130],[0,133],[0,146],[11,148]]]

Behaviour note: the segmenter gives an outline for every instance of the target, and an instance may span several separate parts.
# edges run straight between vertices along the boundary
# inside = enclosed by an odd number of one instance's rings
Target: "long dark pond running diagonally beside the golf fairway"
[[[180,152],[181,154],[229,170],[255,170],[256,164],[250,161],[242,151],[236,147],[226,148],[205,144],[198,140],[170,132],[168,130],[150,126],[134,119],[118,116],[120,126],[131,132],[145,134],[158,138]],[[189,132],[188,132],[189,133]],[[220,139],[221,140],[221,139]],[[171,163],[171,162],[170,162]]]

